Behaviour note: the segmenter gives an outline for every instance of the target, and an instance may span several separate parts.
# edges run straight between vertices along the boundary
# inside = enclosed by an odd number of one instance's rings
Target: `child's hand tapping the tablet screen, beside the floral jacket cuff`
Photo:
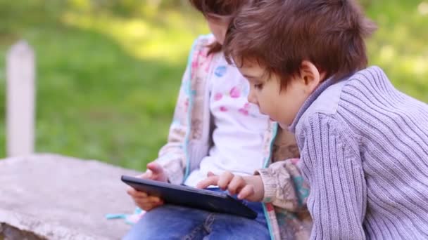
[[[248,201],[262,201],[265,194],[262,178],[259,175],[239,176],[231,172],[222,173],[220,176],[208,173],[208,178],[196,185],[198,188],[206,188],[210,185],[217,185],[222,190],[230,194],[238,194],[238,199]]]

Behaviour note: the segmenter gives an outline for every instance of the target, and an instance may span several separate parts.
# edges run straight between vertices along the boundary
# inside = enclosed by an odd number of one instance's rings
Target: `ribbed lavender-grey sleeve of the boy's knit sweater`
[[[358,142],[325,114],[306,119],[299,135],[301,168],[310,185],[311,239],[365,239],[367,190]]]

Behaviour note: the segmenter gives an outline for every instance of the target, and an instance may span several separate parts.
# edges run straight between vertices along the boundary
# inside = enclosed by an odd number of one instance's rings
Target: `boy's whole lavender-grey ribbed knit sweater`
[[[325,81],[290,130],[311,239],[428,239],[428,105],[370,67]]]

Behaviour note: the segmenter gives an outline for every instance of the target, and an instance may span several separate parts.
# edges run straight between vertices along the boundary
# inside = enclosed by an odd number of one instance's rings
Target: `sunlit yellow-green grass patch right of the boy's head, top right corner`
[[[371,1],[367,13],[379,25],[368,44],[370,63],[401,91],[428,102],[428,1]]]

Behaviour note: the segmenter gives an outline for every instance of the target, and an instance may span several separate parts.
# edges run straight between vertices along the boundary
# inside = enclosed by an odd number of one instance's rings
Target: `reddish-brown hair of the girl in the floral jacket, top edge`
[[[189,0],[191,6],[205,17],[209,14],[234,16],[241,6],[251,0]],[[208,55],[222,51],[222,45],[217,41],[208,46]]]

